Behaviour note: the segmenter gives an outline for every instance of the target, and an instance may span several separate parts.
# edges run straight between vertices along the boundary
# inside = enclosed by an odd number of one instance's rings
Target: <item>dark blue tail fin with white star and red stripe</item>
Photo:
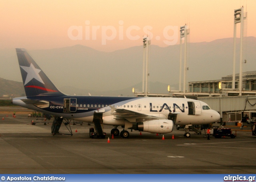
[[[34,59],[32,59],[32,57],[28,54],[26,49],[16,48],[16,53],[20,65],[20,72],[22,75],[26,96],[64,95],[44,74]]]

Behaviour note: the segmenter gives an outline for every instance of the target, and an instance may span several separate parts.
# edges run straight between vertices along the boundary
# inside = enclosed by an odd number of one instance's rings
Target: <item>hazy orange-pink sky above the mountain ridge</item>
[[[142,45],[146,34],[165,47],[178,43],[184,24],[190,42],[210,42],[233,37],[241,6],[248,36],[256,37],[256,0],[0,0],[0,49],[81,44],[114,51]]]

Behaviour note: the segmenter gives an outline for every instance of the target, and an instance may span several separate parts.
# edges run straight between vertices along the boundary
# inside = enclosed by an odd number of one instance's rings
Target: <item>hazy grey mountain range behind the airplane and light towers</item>
[[[236,43],[238,73],[239,38]],[[246,71],[256,70],[255,50],[256,38],[248,37]],[[83,45],[28,51],[44,73],[64,93],[87,95],[90,92],[92,95],[131,96],[132,87],[142,91],[142,45],[113,52],[102,52]],[[150,92],[167,93],[168,85],[178,89],[180,45],[151,45],[149,54]],[[22,81],[15,49],[0,50],[0,63],[1,78]],[[190,43],[188,82],[221,79],[232,74],[232,71],[233,38]],[[0,90],[2,94],[2,82]]]

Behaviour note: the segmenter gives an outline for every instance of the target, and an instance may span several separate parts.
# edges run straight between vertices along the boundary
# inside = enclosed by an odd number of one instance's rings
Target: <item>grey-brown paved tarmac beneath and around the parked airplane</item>
[[[51,123],[27,114],[0,113],[1,174],[256,174],[256,137],[250,126],[236,138],[207,140],[205,131],[184,137],[184,130],[163,135],[130,132],[128,139],[90,138],[93,125],[71,125],[73,135],[51,134]],[[121,128],[118,127],[118,129]],[[77,130],[77,132],[75,132]],[[68,133],[64,125],[60,132]],[[110,142],[108,143],[108,137]],[[172,139],[174,137],[174,139]]]

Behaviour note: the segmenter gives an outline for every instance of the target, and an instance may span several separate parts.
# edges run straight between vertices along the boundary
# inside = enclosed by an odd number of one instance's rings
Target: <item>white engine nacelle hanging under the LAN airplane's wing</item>
[[[150,133],[171,133],[173,121],[167,119],[157,119],[137,123],[138,131]]]

